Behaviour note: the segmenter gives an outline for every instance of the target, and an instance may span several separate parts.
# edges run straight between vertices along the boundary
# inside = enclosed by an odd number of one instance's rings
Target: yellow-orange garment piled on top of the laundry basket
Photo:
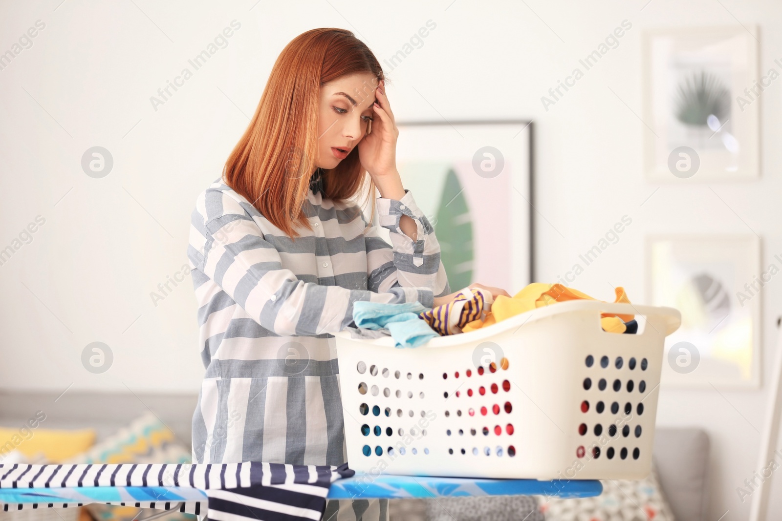
[[[616,294],[614,302],[630,304],[630,298],[627,298],[627,294],[623,287],[615,287],[614,291]],[[497,295],[497,298],[494,299],[491,306],[491,310],[486,312],[485,319],[475,319],[472,322],[468,322],[461,330],[463,333],[468,333],[469,331],[478,330],[482,327],[490,326],[493,323],[501,322],[511,316],[520,315],[521,313],[528,312],[532,309],[542,308],[544,305],[578,299],[597,300],[597,298],[592,298],[586,293],[582,293],[572,287],[563,286],[562,284],[533,282],[533,284],[528,284],[522,291],[519,291],[512,297]],[[634,318],[634,315],[601,313],[600,322],[603,329],[610,333],[624,333],[626,330],[625,323]]]

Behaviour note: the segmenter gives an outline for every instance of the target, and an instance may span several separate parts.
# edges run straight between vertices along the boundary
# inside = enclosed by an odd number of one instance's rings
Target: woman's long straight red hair
[[[316,168],[320,87],[364,72],[386,79],[375,55],[350,30],[319,28],[293,38],[274,62],[253,120],[225,162],[225,184],[289,237],[299,236],[298,226],[312,230],[302,207]],[[368,194],[375,194],[358,147],[323,174],[324,191],[340,208],[367,180]],[[374,215],[374,197],[372,202]]]

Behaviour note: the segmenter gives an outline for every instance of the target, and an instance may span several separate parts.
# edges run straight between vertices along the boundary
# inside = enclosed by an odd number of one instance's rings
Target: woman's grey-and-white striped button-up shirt
[[[432,307],[450,293],[434,230],[411,192],[377,198],[376,207],[392,244],[357,205],[312,190],[303,204],[312,230],[300,227],[295,239],[221,179],[199,194],[188,259],[206,375],[193,462],[346,462],[332,334],[353,323],[353,302]],[[403,215],[414,219],[415,241],[399,227]],[[364,519],[385,519],[386,501],[375,503],[364,506],[378,516]],[[356,519],[361,505],[353,501]]]

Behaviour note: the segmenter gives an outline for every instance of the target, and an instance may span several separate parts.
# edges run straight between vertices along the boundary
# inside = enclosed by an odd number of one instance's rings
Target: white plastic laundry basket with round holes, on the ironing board
[[[634,315],[608,333],[601,312]],[[419,348],[336,334],[348,464],[359,472],[641,479],[673,308],[558,302]]]

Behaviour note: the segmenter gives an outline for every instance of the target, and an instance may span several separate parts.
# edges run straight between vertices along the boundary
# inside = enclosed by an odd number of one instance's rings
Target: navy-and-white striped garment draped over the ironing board
[[[353,474],[347,464],[0,464],[0,502],[3,512],[106,503],[199,519],[300,521],[321,519],[328,487]],[[27,502],[31,494],[41,501]]]

